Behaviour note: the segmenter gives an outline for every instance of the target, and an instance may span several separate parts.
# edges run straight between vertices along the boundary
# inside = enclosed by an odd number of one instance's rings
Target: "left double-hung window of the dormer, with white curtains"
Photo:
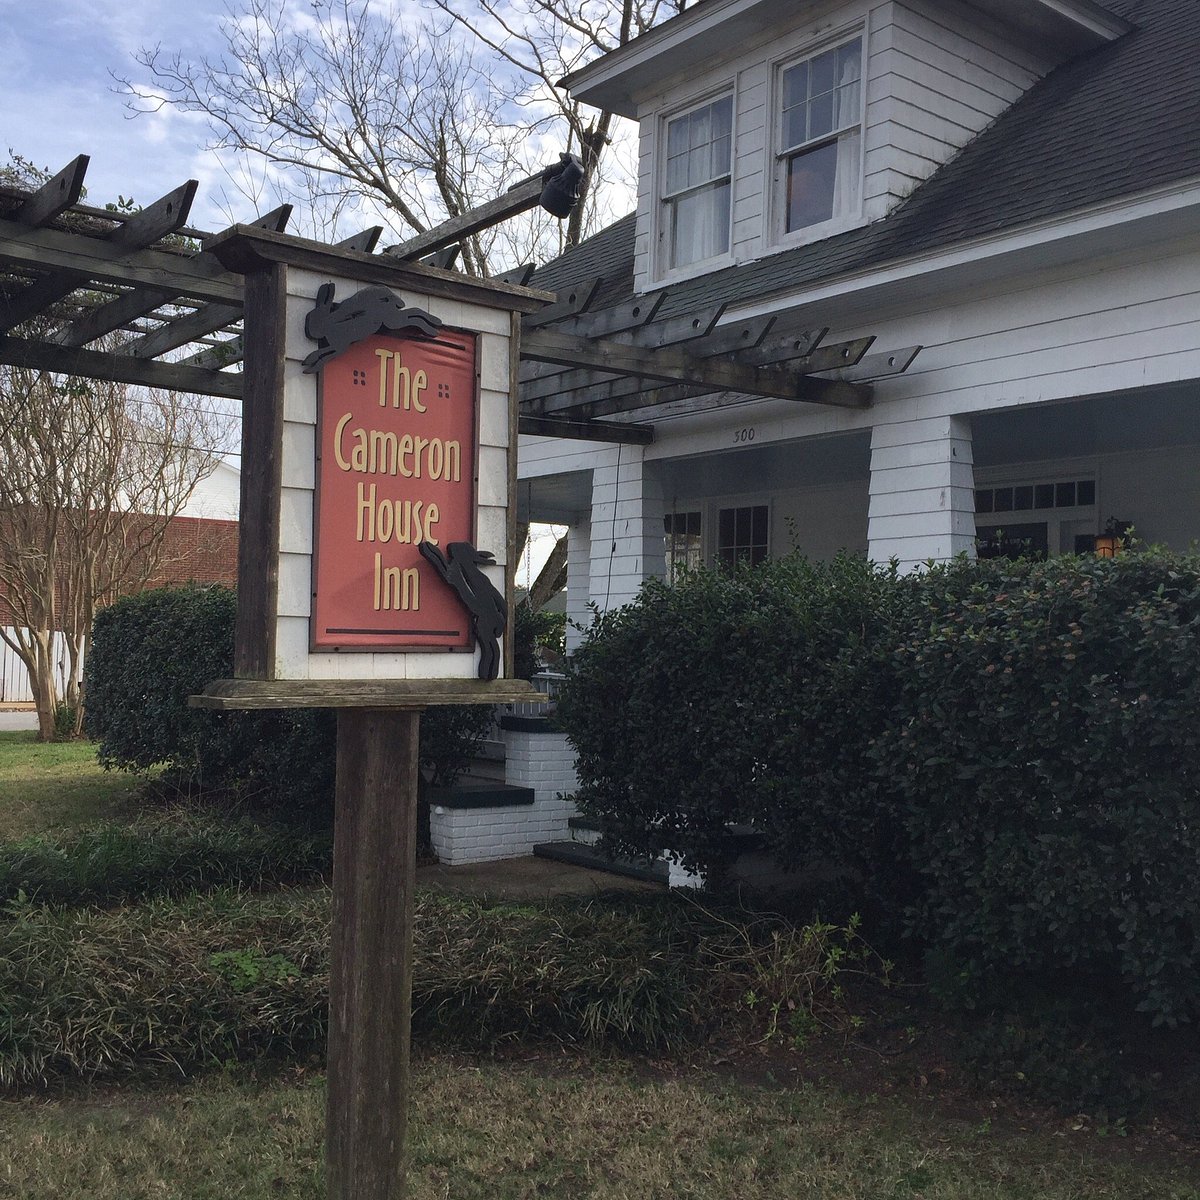
[[[674,270],[730,252],[733,96],[667,121],[662,235]]]

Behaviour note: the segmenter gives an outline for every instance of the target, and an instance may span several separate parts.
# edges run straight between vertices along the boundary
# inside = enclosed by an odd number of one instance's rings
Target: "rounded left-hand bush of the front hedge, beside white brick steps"
[[[596,619],[560,697],[580,806],[613,848],[710,875],[751,823],[781,863],[835,863],[894,907],[911,872],[869,751],[906,596],[850,557],[647,583]]]

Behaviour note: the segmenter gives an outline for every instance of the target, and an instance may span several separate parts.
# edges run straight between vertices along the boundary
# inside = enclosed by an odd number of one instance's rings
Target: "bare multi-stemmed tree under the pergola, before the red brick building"
[[[133,392],[0,367],[0,638],[32,683],[38,737],[78,733],[97,608],[146,586],[164,535],[220,457],[226,418]],[[60,688],[55,642],[65,646]],[[72,726],[58,728],[60,703]]]

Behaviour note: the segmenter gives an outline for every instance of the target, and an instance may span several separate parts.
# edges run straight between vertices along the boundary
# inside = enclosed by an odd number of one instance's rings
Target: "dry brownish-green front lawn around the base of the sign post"
[[[212,1078],[0,1102],[0,1196],[311,1200],[322,1192],[324,1080]],[[1170,1157],[1094,1134],[1031,1138],[823,1086],[619,1062],[418,1064],[412,1200],[1196,1200]]]

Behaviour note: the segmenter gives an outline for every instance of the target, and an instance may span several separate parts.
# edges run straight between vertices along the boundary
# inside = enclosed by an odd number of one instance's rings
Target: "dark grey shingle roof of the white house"
[[[1200,2],[1108,0],[1134,31],[1058,67],[884,220],[674,284],[661,316],[794,292],[989,233],[1200,178]],[[632,293],[634,217],[535,275]]]

